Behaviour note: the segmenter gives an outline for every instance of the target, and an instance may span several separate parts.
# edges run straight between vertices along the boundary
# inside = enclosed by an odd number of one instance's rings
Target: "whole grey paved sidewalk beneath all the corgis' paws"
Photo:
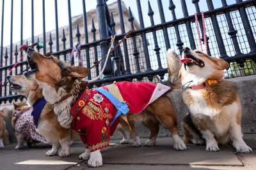
[[[146,139],[141,139],[144,142]],[[157,138],[157,146],[132,148],[118,144],[102,150],[104,166],[95,169],[256,169],[256,134],[244,135],[246,143],[253,148],[253,153],[238,154],[231,146],[220,146],[220,152],[206,152],[205,146],[187,145],[188,150],[173,150],[172,138]],[[132,140],[131,140],[132,141]],[[49,145],[36,145],[32,148],[15,150],[15,145],[6,145],[0,150],[0,169],[93,169],[87,161],[79,160],[84,152],[82,143],[74,143],[71,156],[66,158],[46,157]]]

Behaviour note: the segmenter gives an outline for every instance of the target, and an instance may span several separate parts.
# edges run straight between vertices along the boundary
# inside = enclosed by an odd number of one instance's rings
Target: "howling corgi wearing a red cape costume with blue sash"
[[[177,115],[172,101],[166,96],[180,86],[177,78],[179,69],[171,70],[169,86],[121,81],[99,89],[88,89],[88,82],[82,80],[89,73],[86,67],[67,66],[57,57],[45,57],[33,48],[28,48],[27,59],[31,71],[24,76],[28,80],[36,80],[42,87],[45,99],[54,104],[54,113],[58,115],[60,124],[66,128],[72,127],[80,133],[86,148],[82,153],[83,159],[88,160],[89,167],[102,166],[100,148],[109,145],[110,135],[115,131],[118,120],[125,130],[129,130],[128,126],[131,127],[131,136],[136,145],[140,138],[134,122],[142,122],[150,129],[146,146],[156,144],[159,124],[163,123],[172,133],[175,150],[186,150],[186,145],[177,132]],[[111,97],[108,97],[115,96],[113,94],[116,94],[119,102],[122,99],[124,101],[117,104],[118,111],[127,111],[129,108],[129,112],[125,112],[127,122],[122,115],[116,117],[116,107],[110,102]]]

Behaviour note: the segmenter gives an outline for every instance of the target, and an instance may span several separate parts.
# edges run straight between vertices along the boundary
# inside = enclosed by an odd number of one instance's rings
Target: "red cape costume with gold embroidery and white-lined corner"
[[[170,90],[170,87],[160,83],[122,81],[115,85],[129,106],[129,113],[135,114]],[[100,88],[108,90],[107,87]],[[89,148],[90,152],[109,145],[118,118],[110,127],[109,123],[116,115],[116,108],[107,97],[96,90],[86,88],[72,106],[70,113],[74,117],[72,129],[80,133],[84,146]]]

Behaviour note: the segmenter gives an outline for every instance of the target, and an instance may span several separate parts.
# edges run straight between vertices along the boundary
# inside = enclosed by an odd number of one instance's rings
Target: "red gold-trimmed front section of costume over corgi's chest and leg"
[[[115,132],[118,124],[118,119],[116,119],[115,124],[109,126],[116,114],[115,106],[102,94],[100,95],[103,97],[103,101],[97,103],[93,99],[94,94],[100,93],[96,90],[84,90],[84,93],[71,109],[71,115],[74,117],[72,129],[83,133],[80,134],[80,138],[90,152],[108,146],[110,136]],[[79,103],[81,103],[80,106]],[[93,106],[96,106],[95,110],[97,111],[92,109]],[[106,113],[105,108],[108,108],[109,114]],[[106,124],[107,117],[109,117],[109,124]]]

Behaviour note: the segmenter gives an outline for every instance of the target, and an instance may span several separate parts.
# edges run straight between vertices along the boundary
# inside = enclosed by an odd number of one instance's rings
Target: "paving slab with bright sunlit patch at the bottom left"
[[[111,147],[104,148],[106,152]],[[1,170],[21,170],[21,169],[67,169],[82,160],[78,156],[84,152],[83,143],[75,143],[70,150],[70,157],[47,157],[45,153],[51,149],[50,145],[38,144],[31,148],[15,150],[15,145],[6,145],[0,150]]]

